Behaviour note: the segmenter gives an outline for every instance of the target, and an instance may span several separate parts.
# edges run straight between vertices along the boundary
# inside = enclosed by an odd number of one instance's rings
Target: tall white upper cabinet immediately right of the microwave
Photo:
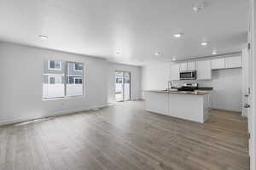
[[[211,60],[196,61],[196,79],[197,80],[212,79]]]

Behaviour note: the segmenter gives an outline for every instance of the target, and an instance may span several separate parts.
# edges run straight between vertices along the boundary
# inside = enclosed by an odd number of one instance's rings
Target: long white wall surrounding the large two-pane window
[[[85,95],[44,101],[44,59],[83,62]],[[105,59],[0,42],[0,124],[107,105],[107,74]]]

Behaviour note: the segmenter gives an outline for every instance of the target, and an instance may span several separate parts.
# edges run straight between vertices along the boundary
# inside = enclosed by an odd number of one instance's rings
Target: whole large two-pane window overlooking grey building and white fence
[[[44,61],[43,99],[83,95],[83,68],[83,64],[77,62],[57,60]],[[75,71],[77,69],[79,69],[79,71]]]

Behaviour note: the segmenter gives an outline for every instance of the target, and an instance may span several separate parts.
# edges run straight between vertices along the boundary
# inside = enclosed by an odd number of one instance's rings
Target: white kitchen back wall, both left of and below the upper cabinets
[[[142,89],[165,89],[169,77],[167,64],[143,67]],[[176,81],[178,87],[183,82],[199,82],[201,87],[214,88],[212,107],[227,111],[241,111],[241,68],[212,71],[209,81]]]

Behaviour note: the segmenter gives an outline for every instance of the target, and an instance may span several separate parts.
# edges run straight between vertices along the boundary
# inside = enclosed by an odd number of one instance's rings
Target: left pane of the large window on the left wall
[[[64,64],[63,61],[46,60],[44,61],[44,84],[43,84],[43,98],[60,98],[65,96],[64,88],[64,71],[52,70],[55,69],[55,63],[57,65]]]

